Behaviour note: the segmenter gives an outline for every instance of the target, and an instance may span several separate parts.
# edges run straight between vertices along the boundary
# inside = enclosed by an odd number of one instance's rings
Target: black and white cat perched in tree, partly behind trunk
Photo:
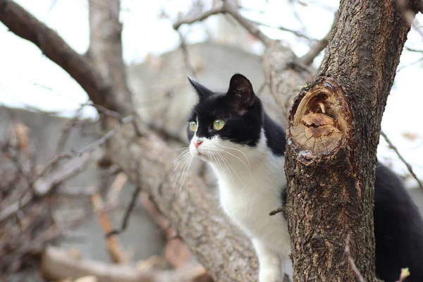
[[[212,166],[223,211],[252,240],[259,282],[280,282],[290,238],[284,215],[269,212],[286,201],[285,131],[243,75],[233,75],[226,93],[190,82],[200,97],[188,121],[190,154]],[[400,269],[409,267],[406,281],[423,281],[422,218],[400,179],[381,165],[374,199],[376,276],[396,281]]]

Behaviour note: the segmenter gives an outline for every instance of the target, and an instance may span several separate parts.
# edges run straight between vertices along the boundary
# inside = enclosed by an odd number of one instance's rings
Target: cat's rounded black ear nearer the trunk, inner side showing
[[[237,111],[243,112],[255,102],[255,94],[252,90],[250,80],[245,78],[244,75],[235,73],[229,82],[229,90],[226,94],[228,99]]]

